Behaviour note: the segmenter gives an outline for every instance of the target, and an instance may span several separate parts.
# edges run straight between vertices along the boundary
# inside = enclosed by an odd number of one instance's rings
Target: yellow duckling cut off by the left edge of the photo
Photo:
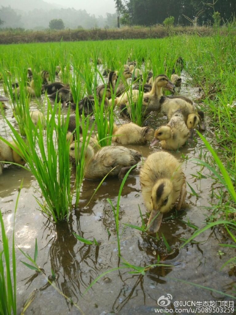
[[[9,143],[14,147],[13,150],[7,143],[0,140],[0,161],[5,161],[8,163],[14,162],[20,165],[25,165],[24,158],[19,154],[19,148],[14,141],[9,141]],[[3,173],[3,167],[5,163],[0,163],[0,175]]]

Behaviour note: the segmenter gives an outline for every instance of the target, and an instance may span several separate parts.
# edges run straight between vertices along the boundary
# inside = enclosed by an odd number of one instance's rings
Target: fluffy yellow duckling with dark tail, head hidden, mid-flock
[[[112,141],[126,144],[145,144],[153,138],[154,130],[150,127],[140,127],[135,123],[124,123],[120,127],[114,124]]]

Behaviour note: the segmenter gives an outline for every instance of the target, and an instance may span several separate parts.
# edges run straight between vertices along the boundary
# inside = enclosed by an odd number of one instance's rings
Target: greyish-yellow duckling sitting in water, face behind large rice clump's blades
[[[78,159],[81,154],[81,142],[77,146]],[[70,145],[70,156],[75,156],[75,143]],[[88,144],[85,154],[85,173],[87,179],[102,179],[104,176],[123,178],[125,173],[141,159],[141,153],[124,146],[104,146],[96,154]]]

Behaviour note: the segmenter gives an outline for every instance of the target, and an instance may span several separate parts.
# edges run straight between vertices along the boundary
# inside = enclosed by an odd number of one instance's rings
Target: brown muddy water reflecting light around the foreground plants
[[[192,97],[196,92],[189,85],[181,90],[181,94]],[[38,103],[32,101],[31,107],[37,106]],[[7,109],[5,114],[14,123],[11,109]],[[161,115],[148,121],[154,128],[165,122],[166,118]],[[15,128],[17,129],[16,125]],[[2,116],[0,135],[6,138],[10,135],[10,130]],[[209,129],[204,135],[211,140]],[[141,226],[138,206],[147,223],[138,169],[129,175],[120,202],[120,232],[124,229],[121,236],[120,260],[117,255],[115,220],[107,198],[110,198],[114,205],[116,204],[121,180],[117,178],[105,180],[89,205],[87,202],[98,182],[84,180],[79,207],[70,213],[69,223],[62,222],[55,225],[39,211],[34,196],[38,198],[41,196],[31,173],[15,167],[4,170],[3,175],[0,176],[0,200],[8,237],[12,239],[17,190],[20,181],[24,178],[16,213],[15,242],[19,248],[33,256],[35,238],[37,238],[37,263],[46,274],[46,276],[36,274],[25,267],[20,262],[25,261],[25,257],[16,249],[18,313],[32,292],[34,300],[25,314],[155,314],[155,308],[159,307],[157,300],[167,294],[172,296],[168,307],[173,310],[174,301],[227,300],[219,293],[211,293],[175,280],[186,280],[228,294],[231,293],[235,283],[235,277],[229,277],[227,267],[220,271],[223,263],[234,253],[230,248],[222,249],[219,246],[219,243],[226,240],[217,229],[201,234],[197,238],[198,243],[188,244],[183,249],[179,249],[182,244],[181,239],[189,238],[194,232],[194,229],[187,225],[188,221],[199,228],[204,226],[204,221],[211,215],[211,210],[206,207],[214,203],[212,190],[218,188],[218,184],[209,177],[208,169],[202,169],[203,178],[198,179],[194,176],[200,171],[200,166],[196,165],[193,158],[199,158],[200,154],[209,155],[202,141],[196,134],[194,136],[195,138],[189,140],[187,146],[173,154],[183,162],[187,182],[196,195],[187,186],[188,206],[178,215],[172,212],[165,216],[160,227],[159,240],[153,240],[136,229],[124,226],[124,223]],[[142,152],[143,157],[160,149],[158,146],[150,149],[148,145],[129,147]],[[100,246],[86,245],[77,241],[73,233],[91,240],[96,238],[101,244]],[[170,253],[163,242],[162,233],[171,247]],[[225,255],[218,255],[218,250],[222,250]],[[163,263],[171,266],[153,267],[145,275],[129,273],[131,269],[115,270],[104,275],[88,293],[83,295],[93,279],[112,268],[122,267],[122,262],[127,261],[132,265],[144,267],[155,264],[158,256]],[[47,277],[51,274],[51,269],[56,275],[56,287],[70,297],[79,309],[48,285]],[[205,312],[202,311],[200,314]]]

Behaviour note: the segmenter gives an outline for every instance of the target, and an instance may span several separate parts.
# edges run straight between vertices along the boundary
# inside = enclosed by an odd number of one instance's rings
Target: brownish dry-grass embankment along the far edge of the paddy
[[[222,34],[224,34],[226,31],[226,28],[221,28]],[[206,26],[198,26],[196,28],[190,26],[177,26],[168,30],[161,25],[153,27],[122,27],[120,29],[66,29],[62,31],[32,31],[8,29],[1,31],[0,44],[163,38],[170,35],[173,36],[181,34],[198,34],[199,36],[211,36],[213,33],[214,29],[212,27]]]

